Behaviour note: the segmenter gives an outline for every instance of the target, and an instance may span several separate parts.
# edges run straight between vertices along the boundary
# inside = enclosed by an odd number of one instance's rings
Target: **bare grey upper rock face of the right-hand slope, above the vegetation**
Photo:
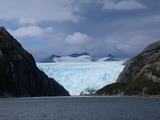
[[[130,82],[140,75],[151,77],[152,81],[159,81],[159,76],[154,75],[159,73],[160,69],[160,41],[152,43],[146,47],[139,55],[128,60],[125,63],[125,68],[119,75],[117,82]],[[145,74],[144,74],[145,73]],[[144,75],[143,75],[144,74]],[[148,77],[149,77],[148,76]],[[154,80],[155,79],[155,80]]]

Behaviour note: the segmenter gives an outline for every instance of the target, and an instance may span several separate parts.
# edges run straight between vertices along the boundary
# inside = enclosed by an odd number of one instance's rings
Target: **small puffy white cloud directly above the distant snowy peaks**
[[[92,40],[91,36],[75,32],[73,35],[68,35],[66,38],[67,44],[84,44]]]

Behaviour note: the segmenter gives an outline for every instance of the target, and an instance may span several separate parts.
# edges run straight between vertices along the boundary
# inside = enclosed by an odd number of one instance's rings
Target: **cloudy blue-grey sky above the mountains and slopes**
[[[82,52],[128,58],[160,40],[160,0],[0,0],[0,26],[37,61]]]

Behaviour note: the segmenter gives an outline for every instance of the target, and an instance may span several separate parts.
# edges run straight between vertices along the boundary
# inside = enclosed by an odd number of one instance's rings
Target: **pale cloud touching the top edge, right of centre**
[[[136,10],[147,9],[145,5],[136,0],[102,0],[104,10]]]

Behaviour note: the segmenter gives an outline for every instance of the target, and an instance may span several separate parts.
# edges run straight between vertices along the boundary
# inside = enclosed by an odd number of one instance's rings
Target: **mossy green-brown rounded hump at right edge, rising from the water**
[[[150,64],[141,74],[137,75],[127,86],[126,95],[158,95],[160,94],[160,82],[156,82],[160,77],[160,70],[155,64]]]

